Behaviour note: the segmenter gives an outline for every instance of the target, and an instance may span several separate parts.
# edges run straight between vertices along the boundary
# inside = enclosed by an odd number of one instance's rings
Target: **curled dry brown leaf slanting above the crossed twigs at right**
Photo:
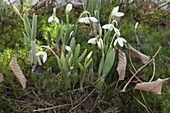
[[[149,62],[149,56],[144,55],[143,53],[137,51],[136,49],[134,49],[130,44],[126,44],[126,48],[129,49],[129,51],[131,52],[131,54],[137,58],[139,58],[143,64],[146,64]]]

